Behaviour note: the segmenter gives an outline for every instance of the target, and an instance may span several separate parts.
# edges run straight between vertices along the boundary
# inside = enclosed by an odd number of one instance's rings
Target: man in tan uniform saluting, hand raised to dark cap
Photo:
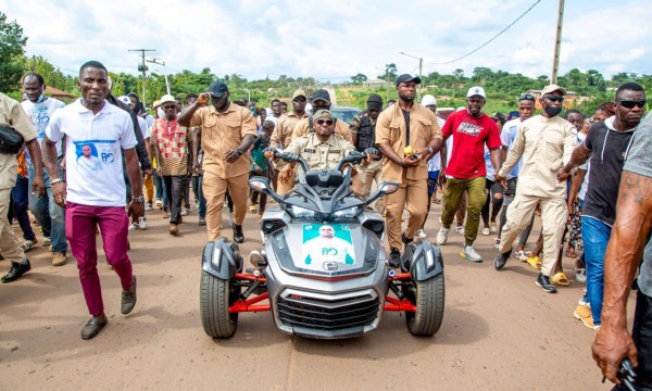
[[[209,240],[222,234],[222,207],[226,190],[234,200],[234,241],[244,241],[242,222],[247,213],[250,160],[247,153],[255,139],[251,112],[233,104],[228,87],[223,81],[211,85],[211,92],[186,106],[179,114],[181,126],[201,126],[192,144],[192,167],[199,169],[199,144],[203,150],[203,195],[206,199],[206,228]],[[212,105],[204,106],[211,100]]]

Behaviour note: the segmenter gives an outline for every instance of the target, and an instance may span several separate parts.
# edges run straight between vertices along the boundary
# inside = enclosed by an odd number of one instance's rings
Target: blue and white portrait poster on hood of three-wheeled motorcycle
[[[346,224],[303,225],[302,267],[335,272],[341,265],[354,265],[351,231]]]

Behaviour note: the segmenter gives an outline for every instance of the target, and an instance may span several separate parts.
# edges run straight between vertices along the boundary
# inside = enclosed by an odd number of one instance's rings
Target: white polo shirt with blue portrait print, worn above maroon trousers
[[[134,123],[126,111],[104,100],[98,114],[80,100],[57,111],[46,135],[65,139],[66,201],[93,206],[125,206],[123,149],[136,147]]]

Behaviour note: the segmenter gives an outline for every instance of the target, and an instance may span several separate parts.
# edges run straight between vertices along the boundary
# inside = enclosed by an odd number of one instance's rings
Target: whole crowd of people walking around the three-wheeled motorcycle
[[[160,209],[176,236],[190,213],[192,189],[209,240],[224,236],[226,205],[233,240],[241,243],[247,212],[255,216],[266,209],[265,194],[250,191],[248,179],[267,177],[277,192],[287,193],[303,175],[296,164],[275,159],[275,151],[301,155],[310,168],[334,168],[359,151],[366,159],[354,167],[355,192],[366,197],[374,182],[400,184],[374,205],[386,218],[390,267],[400,265],[408,243],[428,237],[432,203],[441,203],[434,238],[439,245],[447,245],[455,223],[464,237],[460,255],[478,263],[478,234],[494,235],[496,270],[504,273],[514,254],[537,269],[535,282],[546,292],[569,285],[565,254],[575,261],[575,279],[586,282],[574,316],[599,330],[593,346],[599,365],[617,381],[614,368],[628,355],[638,364],[639,381],[650,384],[652,162],[645,152],[652,118],[644,116],[647,97],[638,84],[619,86],[614,101],[591,115],[563,113],[566,90],[550,85],[519,94],[507,115],[490,116],[484,112],[487,93],[475,86],[466,106],[442,118],[434,96],[416,102],[421,79],[405,74],[396,80],[396,102],[384,106],[372,93],[350,124],[333,115],[327,90],[310,96],[297,90],[291,110],[275,99],[268,113],[254,102],[231,101],[220,80],[208,92],[185,97],[185,106],[179,97],[161,97],[152,115],[135,92],[113,97],[106,68],[95,61],[82,65],[82,98],[68,105],[46,97],[37,73],[26,74],[22,84],[23,102],[0,94],[0,125],[25,139],[17,156],[0,154],[0,253],[11,263],[2,282],[30,269],[25,253],[38,243],[32,211],[42,245],[51,247],[52,265],[66,264],[68,247],[77,262],[91,315],[83,339],[108,323],[97,272],[98,227],[123,288],[122,313],[128,314],[137,301],[128,231],[148,228],[146,211]],[[541,234],[526,251],[536,216]],[[641,260],[632,341],[624,313]]]

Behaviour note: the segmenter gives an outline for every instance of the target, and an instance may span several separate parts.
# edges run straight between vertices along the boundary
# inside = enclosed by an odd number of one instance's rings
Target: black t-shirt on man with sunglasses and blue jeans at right
[[[613,118],[607,118],[605,122],[613,124]],[[616,220],[616,202],[623,164],[636,128],[617,131],[610,129],[605,122],[593,125],[584,142],[592,153],[589,187],[581,215],[613,226]]]

